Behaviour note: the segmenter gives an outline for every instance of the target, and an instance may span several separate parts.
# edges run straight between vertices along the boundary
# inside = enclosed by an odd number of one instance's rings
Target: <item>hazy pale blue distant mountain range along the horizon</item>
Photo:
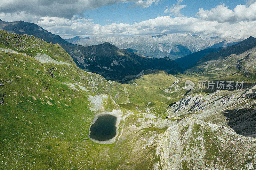
[[[83,46],[102,44],[109,42],[118,48],[136,49],[142,55],[162,58],[170,57],[172,60],[195,53],[205,48],[227,47],[234,45],[241,39],[234,38],[206,38],[187,33],[175,34],[160,34],[160,35],[141,35],[136,37],[122,36],[90,36],[82,38],[76,36],[72,39],[67,39],[68,42]]]

